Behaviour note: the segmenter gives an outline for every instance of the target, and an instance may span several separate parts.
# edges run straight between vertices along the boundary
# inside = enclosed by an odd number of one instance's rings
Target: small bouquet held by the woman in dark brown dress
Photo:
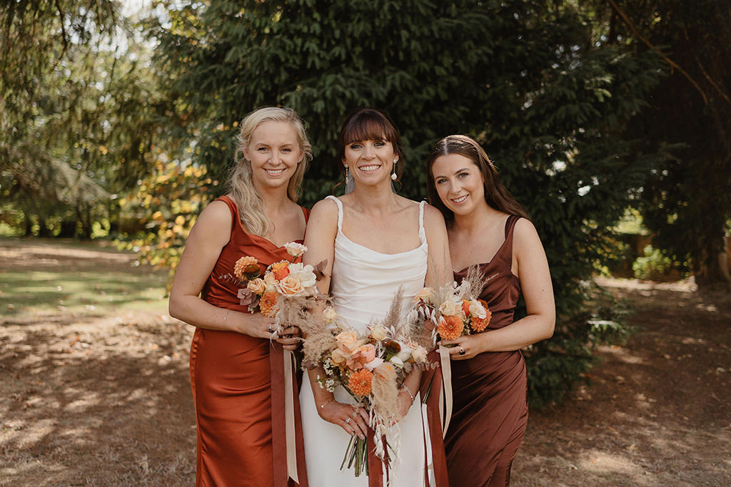
[[[480,269],[474,266],[460,285],[451,283],[436,291],[423,288],[414,296],[409,317],[412,321],[425,323],[442,340],[479,333],[488,327],[492,318],[488,304],[477,299],[485,283],[487,280]]]

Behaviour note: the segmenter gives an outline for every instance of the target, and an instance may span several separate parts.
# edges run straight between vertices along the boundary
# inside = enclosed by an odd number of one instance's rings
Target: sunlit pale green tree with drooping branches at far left
[[[0,9],[0,200],[63,236],[91,237],[110,196],[148,172],[151,77],[120,52],[118,3],[18,0]]]

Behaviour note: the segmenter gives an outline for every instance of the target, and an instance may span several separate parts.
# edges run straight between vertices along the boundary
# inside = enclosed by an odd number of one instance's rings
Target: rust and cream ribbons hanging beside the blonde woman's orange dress
[[[294,372],[294,356],[279,343],[271,342],[272,456],[273,487],[286,487],[289,478],[308,487],[305,445],[302,437],[299,388]]]

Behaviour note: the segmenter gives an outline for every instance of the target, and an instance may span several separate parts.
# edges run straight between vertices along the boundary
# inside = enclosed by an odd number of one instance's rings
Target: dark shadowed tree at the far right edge
[[[629,130],[667,158],[640,193],[653,244],[691,262],[699,286],[727,283],[731,219],[731,2],[656,0],[601,9],[612,42],[662,55],[664,77]],[[672,147],[668,147],[672,145]],[[720,257],[720,258],[719,258]]]

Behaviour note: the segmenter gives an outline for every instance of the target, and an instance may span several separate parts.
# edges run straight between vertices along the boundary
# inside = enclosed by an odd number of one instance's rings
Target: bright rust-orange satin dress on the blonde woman
[[[291,257],[283,247],[246,233],[232,199],[217,201],[231,210],[231,237],[201,296],[214,306],[246,311],[232,277],[238,258],[256,257],[263,273],[269,264]],[[302,210],[307,219],[308,210]],[[272,486],[269,347],[269,340],[234,331],[195,330],[190,379],[197,424],[196,486]]]

